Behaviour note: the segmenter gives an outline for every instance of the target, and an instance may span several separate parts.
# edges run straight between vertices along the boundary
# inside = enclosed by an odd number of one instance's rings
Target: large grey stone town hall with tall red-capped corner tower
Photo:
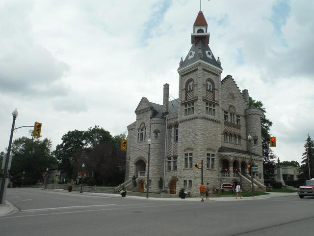
[[[209,48],[207,30],[200,11],[191,33],[192,47],[178,68],[179,98],[169,101],[169,85],[165,84],[163,104],[143,97],[135,110],[136,120],[128,126],[126,183],[136,176],[139,191],[146,191],[148,155],[134,147],[148,150],[149,138],[152,192],[159,191],[162,177],[166,192],[185,188],[198,196],[201,170],[195,164],[201,160],[204,182],[209,182],[210,189],[219,189],[235,178],[242,188],[251,186],[247,136],[252,136],[253,147],[261,144],[262,112],[249,107],[248,90],[241,92],[231,75],[221,79],[221,63]],[[255,184],[263,188],[262,147],[253,152],[253,163],[259,166]]]

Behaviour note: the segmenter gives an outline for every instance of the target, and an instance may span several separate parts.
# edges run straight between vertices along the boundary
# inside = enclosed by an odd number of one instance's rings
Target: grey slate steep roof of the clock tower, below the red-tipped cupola
[[[201,48],[201,51],[203,53],[203,58],[201,60],[206,61],[209,64],[214,65],[214,66],[222,69],[222,67],[217,63],[217,60],[215,59],[213,53],[211,52],[211,50],[209,48],[209,45],[208,44],[204,45],[202,40],[199,40],[198,43],[195,46],[194,46],[194,44],[192,45],[190,51],[188,52],[186,58],[183,61],[183,64],[180,66],[180,68],[183,68],[183,67],[185,67],[187,65],[190,65],[190,64],[194,63],[195,61],[199,60],[199,58],[197,57],[197,53],[199,51],[199,48]],[[195,52],[194,57],[191,58],[191,59],[188,59],[189,58],[188,55],[189,55],[189,53],[191,51]],[[206,56],[206,51],[210,51],[211,52],[211,55],[212,55],[211,58],[212,59],[210,59],[209,57]]]

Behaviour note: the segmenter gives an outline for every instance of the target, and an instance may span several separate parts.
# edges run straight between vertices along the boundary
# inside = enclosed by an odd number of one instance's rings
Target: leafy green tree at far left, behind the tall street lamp
[[[18,181],[25,171],[25,183],[36,183],[47,167],[57,163],[52,155],[51,147],[52,142],[47,138],[41,140],[21,137],[14,140],[11,148],[10,176],[12,180]]]

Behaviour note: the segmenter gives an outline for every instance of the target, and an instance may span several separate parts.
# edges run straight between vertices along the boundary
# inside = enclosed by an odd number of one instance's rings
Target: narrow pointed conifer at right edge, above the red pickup
[[[308,138],[305,141],[305,152],[302,154],[302,161],[300,167],[300,175],[299,178],[303,179],[303,181],[309,179],[309,162],[310,162],[310,174],[311,178],[314,177],[314,141],[311,139],[310,134],[308,134]]]

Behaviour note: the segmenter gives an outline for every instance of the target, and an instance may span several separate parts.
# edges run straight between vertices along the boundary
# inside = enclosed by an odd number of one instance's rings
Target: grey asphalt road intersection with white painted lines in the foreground
[[[167,201],[8,189],[19,212],[0,218],[1,236],[314,235],[314,198]]]

